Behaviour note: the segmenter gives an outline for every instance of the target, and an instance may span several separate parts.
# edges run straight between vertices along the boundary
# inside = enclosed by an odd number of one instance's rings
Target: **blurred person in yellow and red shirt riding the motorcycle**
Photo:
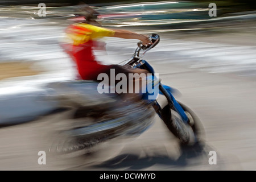
[[[129,73],[138,73],[139,75],[141,73],[147,74],[148,72],[144,69],[129,69],[121,65],[101,64],[95,59],[93,48],[96,45],[96,39],[104,36],[138,39],[141,40],[144,46],[148,46],[151,44],[148,36],[128,30],[103,28],[96,21],[98,15],[97,11],[89,6],[85,6],[85,10],[87,12],[84,16],[85,19],[80,20],[79,23],[71,24],[66,30],[68,37],[72,40],[72,46],[70,49],[66,48],[65,51],[67,51],[75,61],[80,78],[82,80],[98,81],[97,77],[100,73],[106,73],[110,77],[110,69],[114,69],[115,75],[118,73],[125,73],[126,76],[128,76]],[[136,80],[130,81],[133,81],[134,84]],[[129,84],[127,83],[127,85]],[[129,92],[129,94],[125,94],[124,98],[126,101],[138,101],[141,98],[141,94]]]

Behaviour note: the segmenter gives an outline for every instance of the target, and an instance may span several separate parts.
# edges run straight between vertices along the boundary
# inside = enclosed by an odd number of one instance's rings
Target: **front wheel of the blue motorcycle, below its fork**
[[[193,146],[196,143],[201,142],[203,127],[201,127],[199,118],[196,117],[191,109],[180,102],[179,104],[187,114],[189,119],[188,123],[184,123],[180,115],[176,111],[171,110],[168,105],[162,109],[162,119],[164,123],[166,123],[168,129],[182,144]]]

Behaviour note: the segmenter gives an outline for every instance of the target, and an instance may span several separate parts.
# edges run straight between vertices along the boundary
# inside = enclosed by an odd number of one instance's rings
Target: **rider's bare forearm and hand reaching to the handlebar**
[[[123,38],[123,39],[138,39],[143,42],[144,45],[150,44],[150,40],[146,35],[137,34],[129,30],[113,30],[114,37]]]

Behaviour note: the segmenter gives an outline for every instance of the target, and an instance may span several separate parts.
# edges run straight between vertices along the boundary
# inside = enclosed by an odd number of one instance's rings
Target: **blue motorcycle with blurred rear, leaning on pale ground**
[[[150,37],[152,44],[143,46],[137,44],[133,56],[123,66],[146,69],[152,75],[152,88],[167,100],[161,106],[158,99],[150,98],[152,92],[143,94],[143,108],[138,110],[135,105],[123,108],[115,106],[120,102],[115,94],[100,94],[97,92],[98,82],[75,80],[52,82],[47,85],[54,94],[47,97],[60,103],[60,106],[71,108],[66,124],[61,123],[57,129],[58,137],[52,142],[49,151],[57,154],[69,154],[76,151],[90,151],[100,143],[114,138],[141,135],[154,123],[157,114],[168,130],[185,146],[195,146],[202,142],[202,126],[199,118],[189,107],[177,101],[173,96],[175,89],[163,85],[155,76],[154,69],[143,59],[147,51],[154,48],[160,41],[157,34]],[[141,51],[144,51],[142,54]],[[152,82],[150,83],[152,84]],[[150,99],[148,99],[150,98]]]

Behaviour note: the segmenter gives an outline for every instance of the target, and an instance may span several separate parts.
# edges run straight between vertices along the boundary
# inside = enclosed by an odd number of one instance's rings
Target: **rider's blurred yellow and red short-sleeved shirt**
[[[114,31],[86,23],[76,23],[66,30],[71,40],[71,50],[66,51],[74,59],[83,80],[96,80],[98,74],[111,66],[100,64],[93,55],[93,42],[104,36],[114,36]]]

